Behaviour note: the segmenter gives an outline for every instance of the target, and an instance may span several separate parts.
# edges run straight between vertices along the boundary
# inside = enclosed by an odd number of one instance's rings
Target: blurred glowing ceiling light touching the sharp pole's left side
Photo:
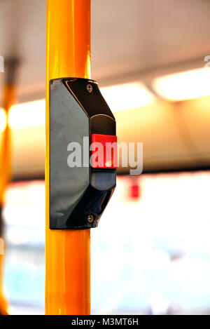
[[[8,123],[12,129],[45,125],[45,100],[36,100],[11,107]]]

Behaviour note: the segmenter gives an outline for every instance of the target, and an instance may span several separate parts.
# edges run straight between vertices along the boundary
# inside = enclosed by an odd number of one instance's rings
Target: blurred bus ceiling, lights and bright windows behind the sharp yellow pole
[[[209,0],[92,0],[92,79],[118,142],[144,144],[91,232],[93,314],[210,314],[209,17]],[[11,314],[43,314],[45,1],[1,0],[0,27],[0,55],[20,58],[4,289]]]

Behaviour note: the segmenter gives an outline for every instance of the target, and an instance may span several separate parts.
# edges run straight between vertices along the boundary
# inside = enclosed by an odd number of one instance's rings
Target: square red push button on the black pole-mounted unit
[[[92,168],[118,168],[117,136],[92,134]]]

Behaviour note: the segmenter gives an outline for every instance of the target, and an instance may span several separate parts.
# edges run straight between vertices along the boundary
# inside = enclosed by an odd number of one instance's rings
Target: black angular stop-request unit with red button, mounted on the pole
[[[116,187],[116,142],[96,81],[50,80],[50,229],[97,227]]]

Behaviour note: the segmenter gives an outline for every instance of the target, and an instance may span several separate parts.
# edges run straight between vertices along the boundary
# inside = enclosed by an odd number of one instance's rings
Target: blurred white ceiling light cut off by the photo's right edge
[[[210,68],[161,76],[153,81],[154,90],[167,100],[189,100],[210,95]]]

